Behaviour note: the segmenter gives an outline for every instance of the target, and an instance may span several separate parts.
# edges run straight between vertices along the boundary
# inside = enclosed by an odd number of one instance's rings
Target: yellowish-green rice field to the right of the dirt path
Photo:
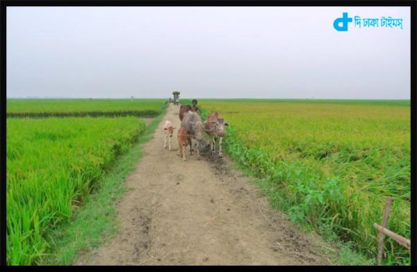
[[[409,101],[200,99],[229,122],[229,155],[277,209],[375,257],[384,202],[389,230],[410,239]],[[409,251],[386,239],[386,264]]]

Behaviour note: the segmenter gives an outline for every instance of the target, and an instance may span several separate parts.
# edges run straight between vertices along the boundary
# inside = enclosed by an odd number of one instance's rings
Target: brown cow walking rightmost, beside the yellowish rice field
[[[224,122],[224,118],[216,111],[208,115],[207,120],[204,121],[204,131],[211,138],[211,152],[215,153],[215,139],[220,138],[219,140],[219,157],[223,157],[222,153],[222,140],[226,136],[224,132],[224,126],[229,126],[229,123]]]

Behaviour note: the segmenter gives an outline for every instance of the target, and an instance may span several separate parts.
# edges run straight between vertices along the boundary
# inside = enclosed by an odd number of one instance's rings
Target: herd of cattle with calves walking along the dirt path
[[[204,140],[204,131],[211,138],[211,152],[215,153],[215,139],[219,140],[219,156],[222,157],[222,141],[226,136],[224,133],[224,126],[228,126],[227,122],[224,122],[222,116],[218,113],[211,113],[208,115],[207,120],[203,122],[202,118],[195,111],[194,107],[189,105],[181,105],[179,108],[179,120],[181,120],[181,127],[178,129],[178,155],[186,160],[186,146],[190,146],[190,155],[193,155],[193,139],[196,141],[195,146],[197,150],[197,159],[199,160],[199,146]],[[165,133],[164,147],[171,150],[171,137],[176,127],[172,126],[172,123],[168,120],[163,125],[163,131]]]

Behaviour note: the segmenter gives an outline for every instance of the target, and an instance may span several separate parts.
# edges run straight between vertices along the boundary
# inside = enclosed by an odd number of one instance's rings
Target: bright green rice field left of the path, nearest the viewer
[[[145,130],[139,118],[7,120],[7,261],[35,264],[115,158]]]

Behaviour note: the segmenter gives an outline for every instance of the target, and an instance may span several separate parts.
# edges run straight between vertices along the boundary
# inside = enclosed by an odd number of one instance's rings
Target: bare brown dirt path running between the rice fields
[[[77,264],[329,264],[316,239],[272,211],[227,157],[204,147],[201,161],[194,153],[182,161],[177,129],[172,151],[163,149],[163,122],[179,127],[178,112],[170,106],[126,181],[119,234]]]

